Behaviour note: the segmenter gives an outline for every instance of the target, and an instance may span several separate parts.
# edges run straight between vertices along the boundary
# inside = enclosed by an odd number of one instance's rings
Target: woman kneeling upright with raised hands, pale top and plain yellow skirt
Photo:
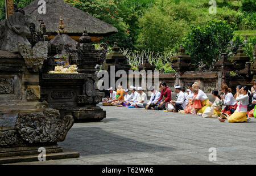
[[[249,122],[247,119],[247,105],[249,104],[248,88],[243,86],[241,89],[237,87],[237,109],[232,115],[228,117],[228,122]],[[220,122],[225,122],[222,117],[218,118]]]

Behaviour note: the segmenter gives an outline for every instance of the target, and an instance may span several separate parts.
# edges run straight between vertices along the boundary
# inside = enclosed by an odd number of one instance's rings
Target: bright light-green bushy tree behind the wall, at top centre
[[[169,51],[181,42],[195,13],[185,3],[176,5],[170,0],[158,0],[139,19],[138,48]]]

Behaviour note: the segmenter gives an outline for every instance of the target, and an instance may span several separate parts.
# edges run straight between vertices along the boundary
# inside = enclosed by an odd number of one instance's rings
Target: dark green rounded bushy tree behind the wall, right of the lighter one
[[[233,29],[221,20],[210,20],[205,25],[192,25],[183,38],[184,48],[192,56],[195,67],[212,68],[219,55],[233,38]],[[203,69],[203,68],[201,68]]]

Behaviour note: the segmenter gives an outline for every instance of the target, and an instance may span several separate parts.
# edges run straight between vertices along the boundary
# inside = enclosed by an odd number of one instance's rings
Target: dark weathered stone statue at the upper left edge
[[[19,12],[14,13],[0,25],[0,50],[16,51],[18,42],[30,45],[27,36],[30,35],[30,16]]]

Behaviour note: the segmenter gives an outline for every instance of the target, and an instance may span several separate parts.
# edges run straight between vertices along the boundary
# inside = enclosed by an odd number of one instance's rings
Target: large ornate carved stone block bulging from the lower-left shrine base
[[[49,108],[43,112],[20,113],[15,129],[26,143],[53,143],[63,141],[73,123],[72,115],[61,118],[58,110]]]

